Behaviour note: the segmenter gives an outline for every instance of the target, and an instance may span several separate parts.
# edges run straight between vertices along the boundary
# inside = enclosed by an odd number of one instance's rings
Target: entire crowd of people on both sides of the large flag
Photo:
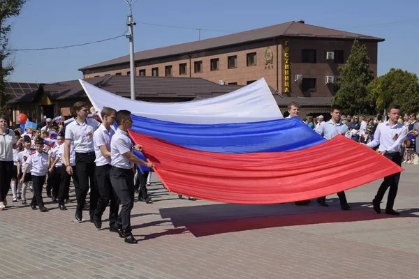
[[[133,145],[128,136],[131,128],[131,112],[110,107],[101,110],[101,123],[89,118],[87,103],[77,102],[73,106],[75,119],[67,126],[46,119],[46,125],[33,133],[19,128],[8,128],[8,118],[0,115],[0,211],[7,206],[6,196],[11,188],[12,202],[21,200],[27,204],[27,188],[33,191],[30,207],[46,212],[43,188],[47,197],[57,201],[60,210],[67,210],[71,180],[75,186],[77,207],[75,220],[82,222],[83,210],[87,209],[89,193],[89,220],[98,229],[102,227],[102,216],[109,206],[110,232],[117,232],[126,243],[137,243],[131,233],[131,209],[135,191],[142,201],[149,202],[145,181],[147,173],[139,172],[135,165],[154,167],[153,163],[141,160],[133,153],[140,145]],[[288,117],[298,116],[300,105],[288,105]],[[419,133],[415,114],[405,114],[400,121],[400,107],[393,105],[388,110],[388,121],[381,114],[366,119],[365,116],[342,116],[342,108],[333,105],[330,121],[324,116],[307,116],[307,125],[316,133],[330,140],[336,135],[345,135],[392,160],[402,164],[402,155],[410,163],[415,153],[414,138]],[[117,123],[117,129],[113,128]],[[24,133],[22,133],[24,132]],[[133,172],[133,169],[135,171]],[[135,175],[136,172],[136,175]],[[372,203],[374,210],[381,213],[380,203],[385,191],[390,188],[385,213],[399,215],[393,209],[400,173],[386,176]],[[136,179],[136,180],[135,180]],[[141,181],[140,187],[135,181]],[[337,193],[342,210],[349,210],[344,192]],[[321,206],[328,206],[325,197],[316,199]],[[295,202],[308,205],[309,200]],[[121,207],[121,209],[119,209]]]

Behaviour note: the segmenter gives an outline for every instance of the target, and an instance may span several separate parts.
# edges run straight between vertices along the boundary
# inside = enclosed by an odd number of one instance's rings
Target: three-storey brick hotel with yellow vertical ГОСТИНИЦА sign
[[[339,74],[337,68],[348,59],[355,39],[367,46],[369,65],[376,75],[377,47],[383,38],[304,21],[136,52],[135,75],[202,77],[238,85],[265,77],[281,96],[300,100],[303,113],[322,113],[328,112],[336,91],[333,82]],[[79,70],[84,78],[131,74],[128,55]]]

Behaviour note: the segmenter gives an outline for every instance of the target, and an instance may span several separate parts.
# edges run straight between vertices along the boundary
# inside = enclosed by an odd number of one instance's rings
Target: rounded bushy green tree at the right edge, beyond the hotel
[[[369,84],[369,92],[377,112],[392,104],[400,105],[402,112],[419,111],[419,79],[407,70],[391,68]]]

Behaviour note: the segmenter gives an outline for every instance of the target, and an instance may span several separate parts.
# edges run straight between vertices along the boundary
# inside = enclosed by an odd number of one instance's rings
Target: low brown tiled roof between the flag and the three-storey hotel
[[[85,81],[101,89],[129,98],[131,96],[130,77],[111,75],[94,77]],[[151,98],[179,98],[199,100],[221,96],[242,88],[242,85],[220,85],[200,77],[135,77],[135,97],[147,100]],[[37,91],[10,100],[9,103],[35,103],[41,92],[45,92],[50,100],[78,100],[87,98],[78,80],[41,84]],[[270,87],[270,91],[279,106],[286,106],[295,101],[302,106],[330,106],[328,97],[283,97]]]

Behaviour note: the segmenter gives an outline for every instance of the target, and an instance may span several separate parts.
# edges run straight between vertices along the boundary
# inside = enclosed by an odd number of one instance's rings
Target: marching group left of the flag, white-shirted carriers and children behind
[[[21,137],[18,131],[8,129],[8,119],[0,115],[0,211],[7,206],[9,185],[13,202],[27,204],[28,186],[33,190],[31,209],[46,212],[42,197],[46,185],[47,196],[58,200],[59,209],[67,210],[71,179],[75,186],[77,207],[75,219],[82,222],[82,211],[89,207],[89,220],[95,227],[102,227],[102,215],[110,207],[110,232],[117,232],[126,243],[137,243],[131,233],[135,164],[154,167],[135,156],[131,151],[140,150],[133,145],[127,130],[131,128],[131,112],[115,111],[110,107],[101,110],[102,123],[88,118],[87,103],[73,106],[75,120],[59,132],[51,125],[32,135]],[[113,127],[117,123],[118,128]],[[54,140],[56,144],[45,143]],[[87,194],[90,195],[86,206]],[[141,195],[141,193],[140,193]],[[149,197],[144,197],[149,202]],[[121,210],[119,211],[119,206]]]

